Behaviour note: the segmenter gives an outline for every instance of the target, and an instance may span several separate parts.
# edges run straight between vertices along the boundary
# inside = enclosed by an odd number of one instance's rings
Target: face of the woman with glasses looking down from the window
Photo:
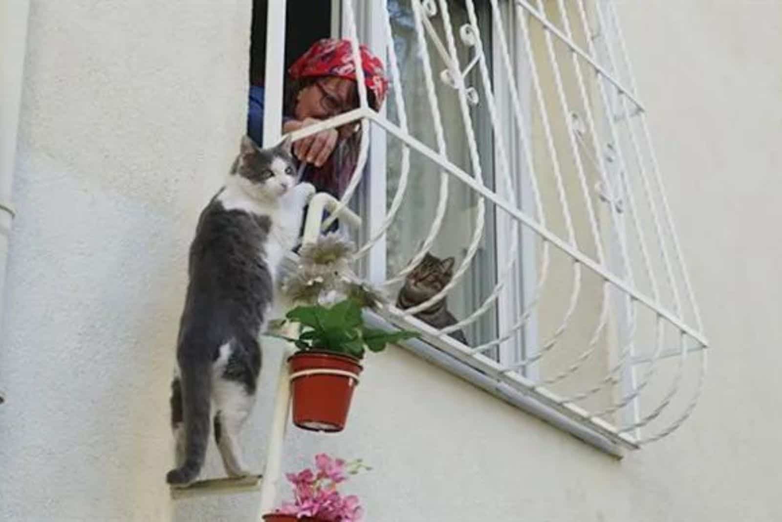
[[[354,109],[357,105],[355,85],[356,82],[346,78],[318,78],[296,96],[296,107],[293,109],[296,120],[325,120]]]

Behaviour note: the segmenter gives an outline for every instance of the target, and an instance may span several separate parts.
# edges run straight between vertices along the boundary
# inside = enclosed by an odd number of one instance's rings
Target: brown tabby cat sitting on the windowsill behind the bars
[[[426,252],[424,259],[418,263],[404,280],[404,286],[400,288],[396,296],[396,307],[399,309],[418,306],[436,295],[454,277],[454,258],[439,259]],[[446,298],[439,300],[429,308],[414,314],[414,316],[432,327],[441,328],[457,324],[456,317],[448,311]],[[449,334],[452,338],[467,345],[465,332],[454,330]]]

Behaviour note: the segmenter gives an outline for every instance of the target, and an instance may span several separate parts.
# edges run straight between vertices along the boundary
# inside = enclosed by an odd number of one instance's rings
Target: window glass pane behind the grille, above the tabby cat
[[[454,39],[461,67],[464,70],[475,55],[475,49],[465,45],[459,37],[459,28],[468,23],[468,14],[463,2],[454,1],[449,2],[448,5]],[[481,16],[484,13],[479,12],[478,14],[479,20],[490,20],[489,16]],[[437,150],[432,109],[429,105],[424,70],[419,58],[420,49],[411,2],[409,0],[389,0],[389,16],[400,66],[410,133],[425,145]],[[439,34],[440,41],[447,48],[442,13],[437,13],[429,20]],[[481,34],[484,45],[490,47],[490,27],[481,27]],[[428,41],[429,59],[432,63],[432,73],[439,99],[439,111],[447,142],[447,156],[452,163],[474,175],[457,91],[440,80],[439,73],[447,69],[447,64],[439,55],[431,39]],[[479,104],[470,105],[472,127],[479,145],[483,181],[487,186],[493,188],[491,127],[477,65],[465,80],[468,85],[474,86],[479,94]],[[392,86],[392,88],[396,88],[396,86]],[[393,93],[389,95],[388,99],[389,116],[392,120],[398,120],[398,107],[394,103]],[[401,141],[389,139],[388,202],[392,201],[399,184],[401,156]],[[431,253],[441,259],[453,256],[456,261],[455,267],[457,267],[465,259],[472,234],[475,231],[478,198],[475,197],[471,189],[461,184],[455,177],[449,177],[449,180],[447,212]],[[396,221],[389,229],[387,238],[389,276],[396,275],[409,263],[414,252],[421,245],[421,241],[428,234],[436,214],[439,184],[439,169],[436,164],[417,152],[411,152],[411,171],[404,202]],[[479,250],[461,282],[448,296],[448,309],[456,316],[457,320],[470,315],[493,290],[494,284],[496,284],[494,248],[494,217],[492,206],[489,205],[486,209],[485,229],[479,243]],[[394,290],[396,291],[396,289]],[[484,314],[480,320],[465,327],[465,335],[471,345],[489,341],[496,334],[496,316],[493,309]]]

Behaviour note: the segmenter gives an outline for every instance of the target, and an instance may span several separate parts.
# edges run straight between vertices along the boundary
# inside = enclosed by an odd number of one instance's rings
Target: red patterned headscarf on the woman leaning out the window
[[[366,45],[359,46],[361,65],[364,68],[364,84],[375,95],[375,110],[380,109],[386,98],[389,82],[383,72],[381,59],[369,52]],[[307,77],[335,76],[356,81],[356,64],[350,40],[324,38],[316,41],[296,62],[288,73],[293,80]]]

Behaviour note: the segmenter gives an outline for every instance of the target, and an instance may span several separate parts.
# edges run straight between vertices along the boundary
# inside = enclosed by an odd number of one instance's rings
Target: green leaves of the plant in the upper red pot
[[[288,320],[301,324],[305,330],[298,339],[288,339],[301,350],[324,350],[343,353],[361,359],[364,350],[382,352],[389,343],[418,337],[412,331],[387,332],[364,326],[361,306],[345,299],[334,306],[297,306],[286,314]],[[274,337],[283,338],[280,335]]]

